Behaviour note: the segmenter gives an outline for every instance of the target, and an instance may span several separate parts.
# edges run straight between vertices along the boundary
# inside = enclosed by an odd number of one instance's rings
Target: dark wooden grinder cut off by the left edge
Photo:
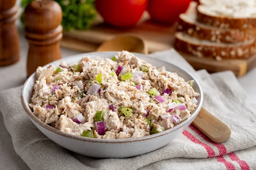
[[[0,0],[0,66],[11,65],[20,58],[16,0]]]

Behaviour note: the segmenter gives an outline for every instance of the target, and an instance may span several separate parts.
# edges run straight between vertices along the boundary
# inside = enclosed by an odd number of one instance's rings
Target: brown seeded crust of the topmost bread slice
[[[200,11],[200,6],[202,5],[197,6],[197,20],[200,23],[219,28],[235,28],[240,30],[256,27],[256,17],[232,18],[212,16]]]

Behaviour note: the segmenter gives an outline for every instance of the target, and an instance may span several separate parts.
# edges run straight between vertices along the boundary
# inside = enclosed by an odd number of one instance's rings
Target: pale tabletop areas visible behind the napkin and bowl
[[[17,24],[20,37],[20,61],[14,65],[0,67],[0,91],[22,85],[26,81],[26,58],[28,53],[28,43],[25,40],[23,26]],[[62,57],[79,54],[67,48],[61,48]],[[244,77],[238,78],[247,94],[256,101],[256,68],[248,72]]]

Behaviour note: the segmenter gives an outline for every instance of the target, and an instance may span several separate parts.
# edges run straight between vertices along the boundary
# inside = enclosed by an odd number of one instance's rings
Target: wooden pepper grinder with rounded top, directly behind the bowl
[[[59,41],[62,38],[62,11],[52,0],[29,3],[24,11],[25,35],[29,42],[27,76],[38,66],[61,58]]]

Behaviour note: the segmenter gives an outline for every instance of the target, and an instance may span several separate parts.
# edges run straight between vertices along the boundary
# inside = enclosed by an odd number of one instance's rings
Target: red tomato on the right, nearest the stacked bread
[[[147,10],[158,23],[174,24],[179,15],[185,13],[192,0],[148,0]]]

